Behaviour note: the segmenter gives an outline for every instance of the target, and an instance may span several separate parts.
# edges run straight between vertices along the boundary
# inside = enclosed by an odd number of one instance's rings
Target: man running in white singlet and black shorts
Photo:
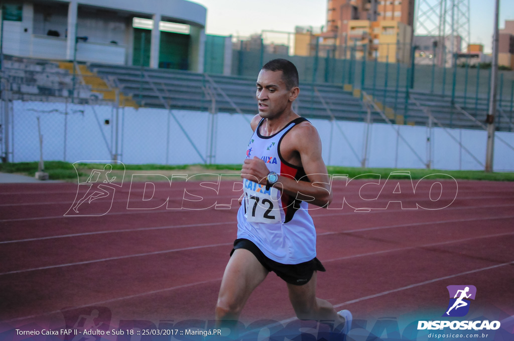
[[[252,291],[270,271],[287,283],[299,319],[332,320],[346,334],[352,314],[336,313],[316,297],[316,230],[307,202],[325,207],[332,200],[316,128],[292,109],[298,97],[298,71],[285,59],[268,62],[256,82],[259,114],[243,164],[242,205],[237,239],[223,275],[216,320],[230,326]],[[316,183],[316,185],[314,185]]]

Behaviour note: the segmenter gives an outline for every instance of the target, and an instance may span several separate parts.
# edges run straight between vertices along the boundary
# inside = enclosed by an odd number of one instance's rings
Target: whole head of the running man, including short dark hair
[[[257,78],[256,98],[259,114],[272,118],[290,112],[300,92],[296,66],[285,59],[274,59],[263,66]]]

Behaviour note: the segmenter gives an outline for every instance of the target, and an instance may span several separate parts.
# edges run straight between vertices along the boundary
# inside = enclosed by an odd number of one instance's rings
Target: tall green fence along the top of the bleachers
[[[317,55],[298,56],[268,53],[261,50],[244,51],[234,49],[232,74],[256,77],[261,66],[274,58],[286,58],[295,63],[300,81],[304,83],[348,84],[352,89],[364,89],[378,96],[378,91],[387,88],[405,93],[415,90],[458,98],[465,106],[479,106],[480,101],[489,101],[491,67],[478,66],[439,67],[412,63],[412,51],[405,62],[387,63],[384,56],[370,56],[366,46],[338,46],[331,49],[318,48]],[[342,56],[336,58],[334,55]],[[367,55],[367,58],[363,58]],[[346,58],[344,58],[346,56]],[[350,88],[350,87],[348,87]],[[387,93],[386,92],[386,93]],[[405,96],[404,96],[405,97]],[[405,98],[403,99],[406,100]],[[498,104],[505,111],[514,107],[514,72],[500,70],[498,74]]]

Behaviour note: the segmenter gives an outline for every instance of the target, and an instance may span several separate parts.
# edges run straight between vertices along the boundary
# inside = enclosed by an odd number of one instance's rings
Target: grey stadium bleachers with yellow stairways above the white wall
[[[19,100],[64,101],[75,94],[77,103],[112,103],[119,89],[125,106],[256,113],[254,78],[88,63],[79,65],[74,80],[70,70],[72,63],[6,56],[3,75]],[[509,104],[498,104],[497,130],[514,129]],[[417,90],[302,83],[295,109],[307,118],[363,122],[369,111],[374,123],[483,129],[488,98],[459,94],[452,101]]]

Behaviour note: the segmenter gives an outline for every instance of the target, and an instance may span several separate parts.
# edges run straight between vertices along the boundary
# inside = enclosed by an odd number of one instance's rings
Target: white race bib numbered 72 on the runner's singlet
[[[279,190],[245,179],[244,181],[245,217],[248,222],[276,224],[280,217]]]

